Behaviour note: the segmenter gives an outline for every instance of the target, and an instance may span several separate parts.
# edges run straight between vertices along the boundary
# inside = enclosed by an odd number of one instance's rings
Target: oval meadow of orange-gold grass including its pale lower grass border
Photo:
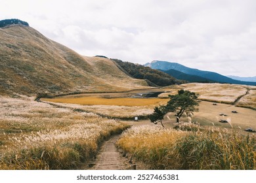
[[[123,93],[110,93],[111,97],[119,95],[127,95]],[[106,94],[107,95],[107,94]],[[85,110],[87,112],[94,112],[101,116],[108,116],[110,118],[120,118],[123,120],[131,120],[135,116],[140,119],[152,114],[156,105],[164,105],[168,99],[159,98],[102,98],[105,95],[72,95],[58,97],[54,99],[42,99],[50,103],[57,103],[63,107],[72,107]]]

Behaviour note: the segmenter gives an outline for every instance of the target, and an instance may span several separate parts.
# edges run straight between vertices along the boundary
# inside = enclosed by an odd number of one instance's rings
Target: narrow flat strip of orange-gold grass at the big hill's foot
[[[110,98],[105,99],[101,97],[75,97],[75,98],[55,98],[42,99],[43,101],[50,101],[54,103],[72,103],[79,105],[116,105],[116,106],[146,106],[146,105],[162,105],[167,103],[168,99],[159,98]]]

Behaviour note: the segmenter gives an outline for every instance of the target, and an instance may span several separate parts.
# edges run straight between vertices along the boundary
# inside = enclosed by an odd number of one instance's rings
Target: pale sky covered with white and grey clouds
[[[255,0],[1,0],[0,17],[85,56],[256,76]]]

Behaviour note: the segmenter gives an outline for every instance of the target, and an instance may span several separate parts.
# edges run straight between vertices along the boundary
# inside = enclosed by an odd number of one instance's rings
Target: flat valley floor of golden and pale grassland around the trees
[[[216,125],[219,127],[234,128],[242,131],[248,127],[256,128],[256,112],[253,100],[241,107],[241,101],[250,97],[248,91],[255,91],[256,87],[235,84],[181,84],[158,89],[132,90],[121,93],[83,93],[77,95],[65,95],[53,99],[41,99],[41,101],[58,103],[62,107],[73,106],[87,112],[95,112],[111,118],[131,119],[140,116],[144,119],[153,112],[155,106],[165,105],[168,95],[174,95],[178,90],[190,90],[200,94],[199,112],[194,112],[193,122],[199,122],[203,126]],[[158,97],[138,97],[142,93],[160,93]],[[137,97],[136,97],[137,96]],[[216,105],[213,105],[216,103]],[[237,111],[234,114],[232,111]],[[219,116],[224,113],[227,116]],[[125,118],[126,117],[126,118]],[[171,119],[171,120],[169,120]],[[184,121],[188,121],[183,118]],[[222,124],[220,120],[228,120],[228,124]],[[150,122],[148,120],[148,122]],[[175,126],[174,114],[165,116],[163,121],[167,126]],[[172,125],[170,125],[172,124]]]

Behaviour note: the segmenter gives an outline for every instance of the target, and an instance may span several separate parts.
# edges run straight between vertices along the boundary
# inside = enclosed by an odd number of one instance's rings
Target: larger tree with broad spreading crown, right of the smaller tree
[[[196,106],[199,105],[199,101],[197,100],[199,95],[194,92],[179,90],[177,95],[169,95],[169,97],[170,100],[164,109],[165,112],[176,112],[177,123],[179,123],[179,119],[184,112],[198,111]]]

